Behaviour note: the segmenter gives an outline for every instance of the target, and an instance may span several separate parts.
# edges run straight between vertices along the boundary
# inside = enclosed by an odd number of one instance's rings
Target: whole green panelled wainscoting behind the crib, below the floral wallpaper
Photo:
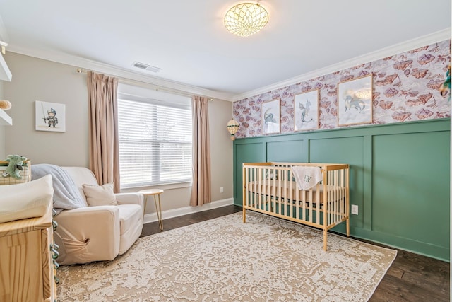
[[[450,261],[450,129],[441,119],[236,139],[234,204],[242,163],[348,163],[352,236]]]

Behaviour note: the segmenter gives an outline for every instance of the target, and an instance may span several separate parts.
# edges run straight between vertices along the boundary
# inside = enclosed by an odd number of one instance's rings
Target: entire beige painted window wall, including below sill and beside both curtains
[[[4,83],[4,97],[13,104],[8,111],[13,119],[13,126],[4,127],[4,152],[26,156],[32,164],[88,166],[86,74],[77,74],[74,66],[13,52],[7,52],[5,59],[13,74],[13,81]],[[66,132],[35,130],[35,100],[66,104]],[[224,100],[209,103],[214,202],[232,199],[233,194],[232,141],[226,130],[231,116],[232,103]],[[0,146],[0,155],[1,151]],[[224,193],[220,193],[220,187],[224,187]],[[124,192],[142,189],[145,187]],[[190,192],[191,187],[165,188],[162,210],[187,207]],[[148,202],[146,213],[153,211],[153,202]]]

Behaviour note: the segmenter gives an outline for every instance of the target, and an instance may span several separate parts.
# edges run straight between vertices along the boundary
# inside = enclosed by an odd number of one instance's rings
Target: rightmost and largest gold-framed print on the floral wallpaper
[[[338,83],[338,126],[371,124],[372,74]]]

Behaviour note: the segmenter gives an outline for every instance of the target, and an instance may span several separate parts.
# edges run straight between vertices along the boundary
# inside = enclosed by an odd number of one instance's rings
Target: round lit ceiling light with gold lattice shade
[[[230,8],[225,16],[225,26],[234,35],[248,37],[261,30],[268,22],[268,13],[259,4],[242,3]]]

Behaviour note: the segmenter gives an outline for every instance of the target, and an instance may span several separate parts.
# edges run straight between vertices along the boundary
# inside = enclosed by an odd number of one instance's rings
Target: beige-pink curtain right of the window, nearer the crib
[[[201,206],[211,202],[210,194],[210,136],[208,98],[194,95],[193,110],[193,185],[190,205]]]

